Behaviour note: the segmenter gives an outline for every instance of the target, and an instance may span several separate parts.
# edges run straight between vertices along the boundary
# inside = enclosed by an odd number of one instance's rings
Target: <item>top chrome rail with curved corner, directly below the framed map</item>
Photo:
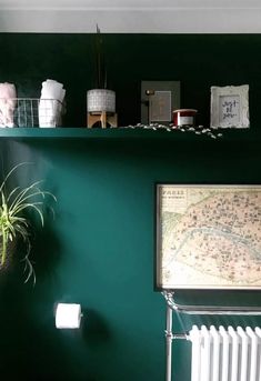
[[[227,305],[182,305],[175,303],[173,292],[163,291],[167,304],[174,311],[185,314],[261,315],[261,307]]]

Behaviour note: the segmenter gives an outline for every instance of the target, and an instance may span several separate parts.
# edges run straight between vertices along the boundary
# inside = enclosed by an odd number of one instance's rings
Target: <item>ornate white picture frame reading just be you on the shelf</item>
[[[211,87],[211,128],[249,128],[249,86]]]

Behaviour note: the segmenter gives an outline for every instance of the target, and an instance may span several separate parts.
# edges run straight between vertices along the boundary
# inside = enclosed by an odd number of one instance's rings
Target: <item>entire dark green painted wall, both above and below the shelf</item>
[[[48,214],[33,242],[36,287],[23,285],[16,272],[1,280],[2,379],[163,380],[164,301],[153,289],[154,183],[260,182],[260,36],[110,34],[104,41],[122,124],[139,121],[140,81],[152,79],[180,80],[182,107],[199,109],[205,124],[210,86],[249,83],[251,129],[219,141],[188,134],[181,141],[0,142],[4,167],[33,161],[28,176],[44,179],[58,198],[54,221]],[[84,124],[86,91],[92,87],[90,36],[0,34],[0,47],[1,81],[17,83],[19,96],[27,97],[39,96],[47,78],[62,81],[66,124]],[[258,292],[185,298],[260,303]],[[59,301],[82,304],[80,331],[56,330]],[[179,319],[174,323],[181,331]],[[189,348],[174,343],[174,381],[189,381]]]

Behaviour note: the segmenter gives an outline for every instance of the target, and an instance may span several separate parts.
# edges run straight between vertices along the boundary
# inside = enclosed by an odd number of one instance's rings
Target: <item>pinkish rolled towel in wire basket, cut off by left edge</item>
[[[17,90],[13,83],[0,83],[0,127],[14,127],[13,112],[17,106]]]

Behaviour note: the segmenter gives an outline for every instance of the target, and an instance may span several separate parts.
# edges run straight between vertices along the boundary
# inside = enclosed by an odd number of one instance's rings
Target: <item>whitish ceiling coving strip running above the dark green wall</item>
[[[260,33],[261,8],[1,9],[0,32]]]

